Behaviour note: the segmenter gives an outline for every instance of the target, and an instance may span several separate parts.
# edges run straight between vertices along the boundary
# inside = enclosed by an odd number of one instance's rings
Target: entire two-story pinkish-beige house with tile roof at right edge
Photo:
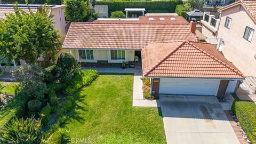
[[[256,77],[256,1],[238,1],[218,11],[217,49],[243,74]]]

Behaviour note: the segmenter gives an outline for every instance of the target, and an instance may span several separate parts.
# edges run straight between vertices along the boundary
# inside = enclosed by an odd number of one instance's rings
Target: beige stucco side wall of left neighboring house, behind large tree
[[[55,28],[55,30],[59,30],[58,34],[59,35],[66,35],[66,30],[65,30],[65,26],[66,26],[66,20],[65,20],[65,15],[64,15],[64,7],[57,7],[52,9],[52,13],[54,14],[53,19],[53,26]],[[63,43],[64,42],[65,37],[60,38],[60,42]]]

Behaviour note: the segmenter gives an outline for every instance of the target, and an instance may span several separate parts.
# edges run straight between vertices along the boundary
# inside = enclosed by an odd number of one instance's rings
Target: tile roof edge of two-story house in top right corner
[[[252,19],[256,21],[256,0],[240,0],[220,8],[218,12],[229,9],[230,7],[233,7],[238,4],[241,4],[244,7],[244,9],[251,15]]]

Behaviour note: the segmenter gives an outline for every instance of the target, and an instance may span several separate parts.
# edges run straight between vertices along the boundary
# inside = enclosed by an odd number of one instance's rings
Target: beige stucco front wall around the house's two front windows
[[[78,50],[67,50],[78,62],[97,62],[98,60],[107,60],[109,63],[122,63],[123,60],[110,60],[110,50],[93,50],[94,60],[79,60]],[[125,61],[134,61],[134,51],[125,51]]]

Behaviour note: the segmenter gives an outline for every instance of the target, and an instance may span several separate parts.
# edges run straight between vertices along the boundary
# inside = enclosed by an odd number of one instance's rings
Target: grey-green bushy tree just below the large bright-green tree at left
[[[17,77],[21,89],[30,99],[44,99],[47,87],[41,67],[36,64],[19,66],[13,71],[13,75]]]

